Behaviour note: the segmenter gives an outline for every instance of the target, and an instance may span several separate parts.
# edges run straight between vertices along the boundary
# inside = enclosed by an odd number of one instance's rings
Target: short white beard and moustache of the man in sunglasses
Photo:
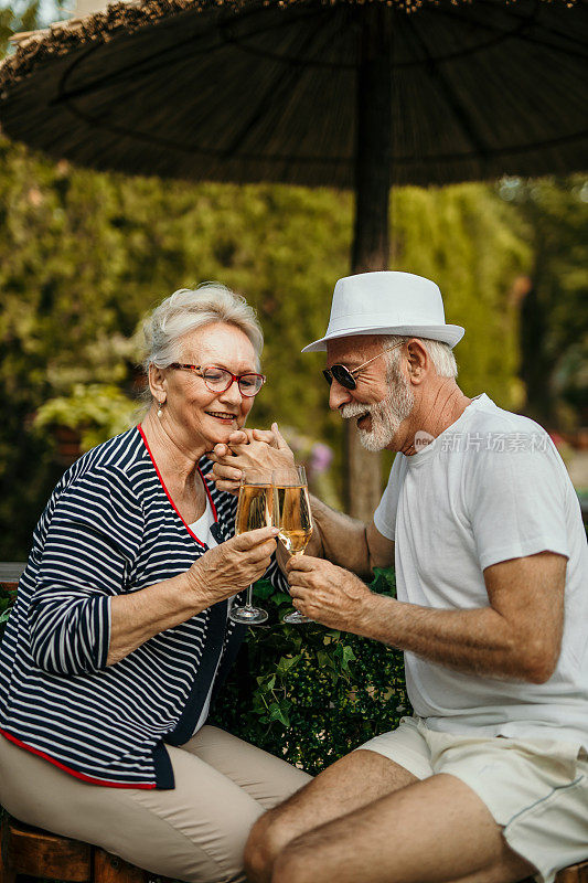
[[[388,394],[382,402],[376,402],[373,405],[350,402],[349,405],[343,405],[340,408],[341,416],[345,419],[370,414],[372,428],[362,429],[357,427],[357,429],[362,446],[366,450],[374,453],[384,450],[392,443],[402,422],[410,415],[415,404],[415,396],[408,382],[396,366],[388,370],[386,381],[389,385]]]

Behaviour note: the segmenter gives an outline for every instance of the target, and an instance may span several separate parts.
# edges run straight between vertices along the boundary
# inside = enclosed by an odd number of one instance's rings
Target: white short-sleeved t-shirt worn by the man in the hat
[[[406,682],[432,730],[588,748],[588,549],[545,430],[479,396],[428,447],[396,456],[374,521],[396,543],[398,599],[425,607],[488,606],[482,571],[500,561],[542,551],[568,558],[562,652],[546,683],[466,674],[411,652]]]

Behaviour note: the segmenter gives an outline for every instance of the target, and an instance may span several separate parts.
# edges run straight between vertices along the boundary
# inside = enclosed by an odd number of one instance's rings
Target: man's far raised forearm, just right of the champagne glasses
[[[370,547],[363,521],[336,512],[312,494],[310,504],[314,530],[307,554],[324,557],[357,576],[368,576]]]

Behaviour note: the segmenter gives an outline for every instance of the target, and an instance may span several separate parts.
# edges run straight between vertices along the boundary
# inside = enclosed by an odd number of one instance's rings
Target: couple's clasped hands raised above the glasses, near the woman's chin
[[[295,456],[288,443],[272,423],[271,429],[238,429],[228,438],[227,445],[215,445],[207,455],[214,464],[209,474],[218,490],[238,493],[243,470],[289,469]]]

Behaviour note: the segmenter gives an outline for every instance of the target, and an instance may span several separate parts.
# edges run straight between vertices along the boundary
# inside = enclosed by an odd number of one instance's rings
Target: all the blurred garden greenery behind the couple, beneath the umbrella
[[[1,8],[0,50],[47,14]],[[588,483],[576,453],[588,448],[588,179],[398,189],[391,219],[391,268],[435,279],[448,321],[467,329],[456,350],[464,392],[539,421]],[[269,382],[250,424],[288,427],[336,503],[341,421],[322,357],[300,350],[323,333],[349,272],[351,224],[349,193],[131,180],[0,138],[0,560],[26,557],[79,446],[136,418],[143,315],[210,279],[244,294],[264,326]]]

